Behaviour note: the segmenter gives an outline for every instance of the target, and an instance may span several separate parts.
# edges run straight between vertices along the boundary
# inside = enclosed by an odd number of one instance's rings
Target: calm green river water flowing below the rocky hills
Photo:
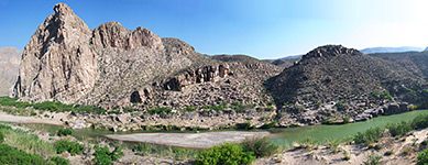
[[[312,139],[316,142],[323,142],[326,140],[341,140],[344,138],[351,138],[356,132],[367,130],[375,127],[385,127],[387,123],[409,121],[419,114],[428,113],[428,110],[417,110],[405,112],[400,114],[383,116],[374,118],[363,122],[348,123],[348,124],[334,124],[334,125],[308,125],[299,128],[286,128],[286,129],[270,129],[263,130],[271,132],[271,140],[278,144],[292,145],[294,142],[300,142],[305,139]],[[32,129],[45,130],[54,133],[62,127],[51,124],[25,124]],[[255,130],[260,131],[260,130]],[[132,133],[173,133],[171,131],[132,131],[132,132],[112,132],[107,130],[91,130],[81,129],[75,130],[74,135],[77,138],[105,138],[108,134],[132,134]],[[177,133],[179,131],[174,131]],[[191,133],[191,132],[185,132]]]

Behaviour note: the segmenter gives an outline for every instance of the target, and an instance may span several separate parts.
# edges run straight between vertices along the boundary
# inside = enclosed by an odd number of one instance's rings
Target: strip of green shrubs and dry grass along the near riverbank
[[[17,127],[17,124],[12,125]],[[20,127],[18,125],[18,128]],[[296,150],[305,148],[306,152],[311,152],[318,151],[325,145],[326,148],[331,150],[332,153],[343,153],[344,160],[350,160],[354,155],[343,148],[344,144],[362,145],[370,150],[378,151],[386,147],[383,146],[386,144],[381,143],[383,141],[382,139],[391,136],[399,140],[400,138],[406,138],[411,134],[413,130],[426,128],[428,128],[428,114],[421,114],[409,122],[388,123],[386,127],[372,128],[364,132],[359,132],[351,139],[329,140],[321,143],[309,138],[301,140],[295,147]],[[69,133],[69,131],[72,131],[72,133]],[[0,124],[0,138],[3,136],[4,139],[1,148],[7,157],[0,161],[6,164],[69,164],[69,160],[64,158],[64,154],[62,154],[68,153],[72,157],[73,155],[78,157],[87,155],[89,156],[89,158],[87,158],[88,163],[111,164],[113,162],[125,163],[121,157],[130,154],[127,151],[131,151],[133,155],[154,156],[158,158],[171,157],[178,162],[194,164],[252,164],[256,160],[268,158],[274,155],[294,151],[287,150],[286,146],[279,147],[278,144],[272,143],[267,138],[246,140],[240,144],[226,143],[200,151],[147,143],[123,143],[114,145],[114,141],[105,141],[106,143],[99,146],[98,143],[94,143],[94,140],[90,139],[74,139],[69,135],[73,134],[73,130],[67,129],[48,133],[51,135],[48,140],[40,139],[40,135],[37,134],[40,133],[22,131],[20,129],[12,129],[11,127]],[[420,143],[416,143],[415,141],[408,148],[407,146],[403,147],[402,152],[405,154],[414,154],[421,151],[417,156],[417,160],[419,164],[424,164],[426,163],[426,160],[428,160],[426,154],[428,153],[427,145],[427,139],[422,140]],[[13,154],[6,152],[9,150],[12,151],[11,153]],[[364,150],[364,147],[361,147],[360,150]],[[386,151],[385,156],[392,155],[396,151]],[[14,155],[21,156],[22,158],[15,157]],[[372,154],[366,157],[364,164],[378,164],[382,160],[383,156]]]

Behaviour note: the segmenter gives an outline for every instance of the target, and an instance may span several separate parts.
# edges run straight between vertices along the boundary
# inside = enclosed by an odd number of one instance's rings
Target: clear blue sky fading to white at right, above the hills
[[[90,29],[118,21],[204,54],[278,58],[325,44],[428,46],[427,0],[0,0],[0,47],[23,50],[57,2]]]

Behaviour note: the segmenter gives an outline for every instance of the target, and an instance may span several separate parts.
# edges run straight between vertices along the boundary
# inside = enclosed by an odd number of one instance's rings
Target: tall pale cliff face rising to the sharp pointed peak
[[[67,4],[54,10],[25,46],[14,97],[74,102],[94,87],[98,72],[89,47],[91,30]]]

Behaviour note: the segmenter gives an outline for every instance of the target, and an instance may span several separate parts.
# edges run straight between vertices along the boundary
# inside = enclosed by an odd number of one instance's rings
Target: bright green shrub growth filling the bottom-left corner
[[[0,164],[47,164],[46,161],[37,154],[25,153],[22,150],[12,147],[8,144],[0,144]]]

